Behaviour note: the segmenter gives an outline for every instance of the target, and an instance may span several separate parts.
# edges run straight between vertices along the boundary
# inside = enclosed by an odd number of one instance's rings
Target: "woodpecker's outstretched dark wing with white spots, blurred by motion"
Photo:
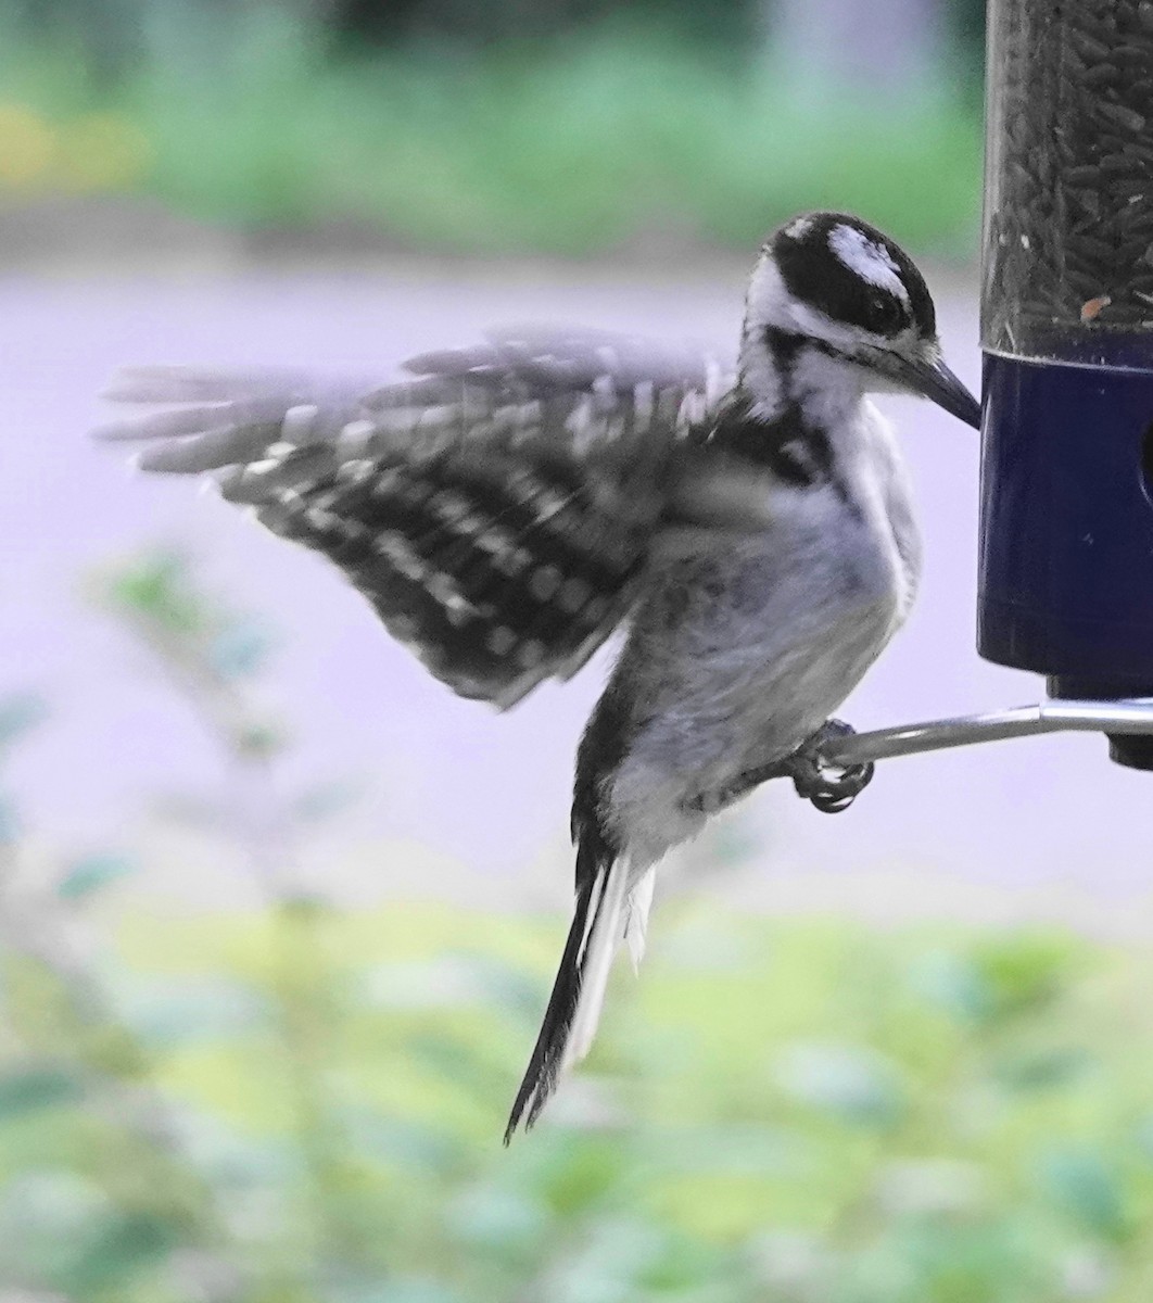
[[[701,351],[532,327],[425,353],[379,386],[132,367],[99,429],[146,470],[335,562],[455,692],[505,708],[567,678],[631,609],[687,433],[730,387]]]

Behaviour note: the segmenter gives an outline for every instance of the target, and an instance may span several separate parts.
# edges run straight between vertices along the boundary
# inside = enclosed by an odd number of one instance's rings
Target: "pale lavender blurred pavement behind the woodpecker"
[[[171,541],[237,606],[284,633],[268,683],[301,739],[289,779],[370,777],[356,814],[339,825],[336,844],[361,848],[349,863],[371,865],[387,886],[391,870],[371,851],[386,838],[412,848],[399,870],[406,886],[455,864],[474,898],[562,903],[573,748],[605,658],[507,718],[455,700],[319,559],[188,481],[132,474],[120,450],[90,446],[93,396],[125,361],[305,361],[379,366],[386,377],[408,353],[524,318],[728,347],[744,271],[674,268],[644,281],[606,267],[436,263],[215,278],[9,272],[0,280],[0,691],[39,688],[53,710],[10,773],[31,825],[99,844],[130,835],[146,794],[219,783],[216,758],[178,701],[78,594],[86,568]],[[930,280],[946,353],[976,390],[975,288]],[[924,403],[883,407],[920,493],[926,575],[909,627],[844,715],[868,728],[1036,700],[1037,680],[984,665],[973,650],[976,435]],[[1153,779],[1110,765],[1094,737],[890,761],[839,818],[787,790],[762,790],[737,825],[763,837],[765,853],[744,877],[782,907],[795,885],[819,882],[830,906],[865,891],[881,913],[934,912],[934,900],[948,911],[951,898],[934,896],[933,883],[952,881],[967,883],[963,895],[1024,893],[1021,908],[1046,912],[1050,902],[1072,920],[1094,900],[1123,913],[1145,891],[1150,795]],[[429,890],[436,894],[431,881]]]

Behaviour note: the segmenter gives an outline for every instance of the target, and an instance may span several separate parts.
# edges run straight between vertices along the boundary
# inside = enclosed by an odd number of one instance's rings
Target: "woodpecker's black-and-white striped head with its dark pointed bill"
[[[760,354],[760,358],[758,358]],[[861,391],[932,399],[967,425],[981,407],[945,365],[925,278],[887,236],[843,212],[793,218],[765,242],[749,281],[743,366],[808,354]],[[825,361],[822,362],[821,358]]]

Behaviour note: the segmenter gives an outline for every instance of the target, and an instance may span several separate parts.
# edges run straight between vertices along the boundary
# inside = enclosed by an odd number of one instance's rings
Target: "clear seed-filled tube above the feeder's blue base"
[[[988,115],[985,348],[1153,349],[1153,0],[990,0]]]

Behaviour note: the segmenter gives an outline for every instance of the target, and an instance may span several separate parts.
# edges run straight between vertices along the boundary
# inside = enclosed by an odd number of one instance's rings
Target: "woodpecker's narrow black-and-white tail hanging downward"
[[[640,962],[645,943],[645,924],[653,899],[653,870],[629,886],[628,861],[601,859],[591,869],[577,856],[576,913],[560,959],[545,1020],[517,1091],[516,1102],[504,1131],[504,1143],[524,1121],[533,1126],[548,1102],[562,1072],[588,1054],[601,1009],[612,959],[623,939],[628,939],[633,960]]]

